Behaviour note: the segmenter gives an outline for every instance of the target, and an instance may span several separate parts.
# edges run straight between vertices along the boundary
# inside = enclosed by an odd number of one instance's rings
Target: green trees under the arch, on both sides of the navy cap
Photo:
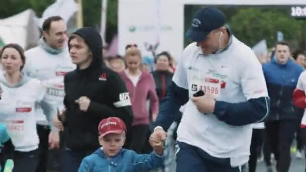
[[[189,29],[192,14],[205,6],[185,6],[185,33]],[[289,41],[293,49],[306,49],[305,40],[306,20],[296,20],[290,17],[289,6],[250,7],[250,6],[221,6],[219,8],[225,15],[228,25],[234,35],[253,47],[265,39],[268,47],[277,41],[276,32],[284,34],[284,39]],[[185,39],[185,46],[190,40]]]

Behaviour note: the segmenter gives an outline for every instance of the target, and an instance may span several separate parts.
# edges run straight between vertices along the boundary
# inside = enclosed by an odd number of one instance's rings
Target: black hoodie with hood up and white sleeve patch
[[[133,115],[124,82],[116,72],[102,67],[100,34],[89,27],[79,29],[74,34],[85,40],[93,53],[93,61],[88,68],[81,70],[78,66],[64,77],[64,134],[67,148],[87,152],[99,147],[98,125],[102,119],[119,117],[129,128]],[[82,112],[79,105],[74,103],[82,96],[91,100],[87,112]]]

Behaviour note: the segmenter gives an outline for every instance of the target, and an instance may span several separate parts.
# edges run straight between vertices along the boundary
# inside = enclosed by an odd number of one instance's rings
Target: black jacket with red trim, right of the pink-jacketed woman
[[[156,93],[159,97],[159,103],[166,97],[168,88],[171,85],[173,73],[169,71],[154,71],[152,72],[156,84]]]

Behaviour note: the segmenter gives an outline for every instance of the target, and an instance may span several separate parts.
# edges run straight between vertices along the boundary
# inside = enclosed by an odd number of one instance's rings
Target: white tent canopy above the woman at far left
[[[0,20],[0,37],[4,43],[17,43],[25,49],[37,45],[40,34],[35,25],[35,16],[35,12],[28,9]]]

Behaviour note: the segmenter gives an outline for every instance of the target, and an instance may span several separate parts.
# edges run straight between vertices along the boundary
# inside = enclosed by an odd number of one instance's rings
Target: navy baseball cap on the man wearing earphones
[[[199,9],[195,13],[186,36],[198,42],[205,40],[207,35],[225,24],[225,15],[218,9]]]

